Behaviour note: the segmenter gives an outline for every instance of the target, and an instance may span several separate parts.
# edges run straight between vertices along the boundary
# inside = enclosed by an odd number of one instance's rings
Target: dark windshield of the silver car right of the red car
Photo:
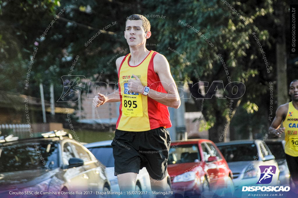
[[[233,144],[217,146],[227,162],[252,161],[257,158],[255,144]]]

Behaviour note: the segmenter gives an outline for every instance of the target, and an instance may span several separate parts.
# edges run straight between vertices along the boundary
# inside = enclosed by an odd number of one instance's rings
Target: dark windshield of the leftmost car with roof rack
[[[51,169],[58,168],[56,143],[18,143],[0,148],[0,173],[46,169],[45,165]]]

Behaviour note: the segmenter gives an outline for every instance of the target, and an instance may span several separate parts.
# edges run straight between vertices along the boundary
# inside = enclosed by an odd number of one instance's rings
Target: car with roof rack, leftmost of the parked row
[[[42,135],[13,141],[1,139],[0,197],[11,192],[21,193],[20,197],[30,197],[30,192],[59,192],[60,196],[75,197],[78,195],[72,192],[76,191],[82,193],[81,197],[90,197],[84,192],[110,191],[103,165],[70,134],[52,131]]]

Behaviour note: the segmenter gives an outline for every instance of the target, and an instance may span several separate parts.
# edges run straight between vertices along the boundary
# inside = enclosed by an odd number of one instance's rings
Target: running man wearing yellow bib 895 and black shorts
[[[116,60],[119,90],[107,96],[98,93],[93,99],[95,107],[121,102],[115,131],[117,141],[112,142],[115,175],[121,191],[135,191],[136,176],[143,167],[150,175],[152,191],[165,191],[167,187],[171,140],[165,128],[172,126],[168,106],[177,109],[180,98],[167,59],[145,47],[150,36],[147,18],[142,15],[127,18],[124,37],[130,53]]]

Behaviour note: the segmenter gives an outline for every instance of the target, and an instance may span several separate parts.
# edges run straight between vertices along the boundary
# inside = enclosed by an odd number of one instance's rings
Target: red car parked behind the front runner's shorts
[[[176,193],[198,195],[203,191],[234,191],[228,163],[210,140],[173,141],[168,158],[168,173]]]

